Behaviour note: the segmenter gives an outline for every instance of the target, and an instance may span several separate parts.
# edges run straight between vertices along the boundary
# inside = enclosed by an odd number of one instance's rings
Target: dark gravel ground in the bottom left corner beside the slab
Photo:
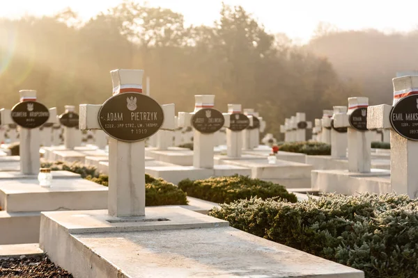
[[[0,258],[1,278],[72,278],[48,256],[20,256],[20,258]]]

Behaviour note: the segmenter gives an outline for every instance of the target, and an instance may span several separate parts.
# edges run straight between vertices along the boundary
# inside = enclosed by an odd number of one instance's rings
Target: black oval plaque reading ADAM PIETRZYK
[[[116,140],[144,140],[160,129],[164,113],[160,104],[147,95],[124,92],[104,101],[98,115],[103,131]]]

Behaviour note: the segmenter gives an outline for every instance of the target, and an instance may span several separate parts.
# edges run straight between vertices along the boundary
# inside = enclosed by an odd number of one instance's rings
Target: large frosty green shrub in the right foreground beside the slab
[[[418,200],[406,195],[327,194],[295,204],[252,198],[210,215],[366,277],[418,277]]]

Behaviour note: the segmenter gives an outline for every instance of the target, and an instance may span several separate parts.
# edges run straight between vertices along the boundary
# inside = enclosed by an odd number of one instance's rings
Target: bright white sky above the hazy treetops
[[[0,17],[52,15],[66,7],[83,19],[116,6],[121,0],[0,0]],[[139,1],[142,3],[142,1]],[[182,13],[186,24],[211,25],[219,18],[222,0],[148,0]],[[319,22],[339,29],[377,28],[380,31],[410,31],[418,28],[417,0],[224,0],[241,5],[264,24],[270,33],[286,33],[296,42],[307,42]]]

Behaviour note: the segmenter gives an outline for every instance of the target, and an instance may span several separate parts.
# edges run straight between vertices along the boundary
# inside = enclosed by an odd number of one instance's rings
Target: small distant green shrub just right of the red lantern
[[[311,156],[330,156],[331,145],[323,142],[286,142],[279,146],[282,152],[297,152]]]

